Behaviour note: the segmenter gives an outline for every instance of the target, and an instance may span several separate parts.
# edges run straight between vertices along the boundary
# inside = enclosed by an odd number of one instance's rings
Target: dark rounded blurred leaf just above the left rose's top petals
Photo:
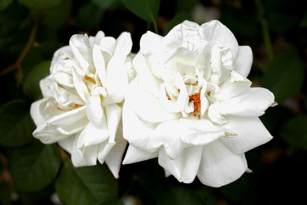
[[[77,28],[81,31],[95,29],[102,21],[103,13],[101,8],[92,3],[83,4],[77,11]]]

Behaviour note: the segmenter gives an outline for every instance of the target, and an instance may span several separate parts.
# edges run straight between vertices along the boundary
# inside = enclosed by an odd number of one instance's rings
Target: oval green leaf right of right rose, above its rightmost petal
[[[270,62],[262,80],[262,87],[282,102],[297,94],[304,81],[304,69],[297,52],[281,53]]]

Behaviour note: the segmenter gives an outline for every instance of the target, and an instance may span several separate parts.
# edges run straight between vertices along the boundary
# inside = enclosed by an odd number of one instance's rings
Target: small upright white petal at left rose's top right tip
[[[116,40],[117,45],[114,51],[114,56],[128,56],[132,48],[131,35],[128,32],[122,32]]]

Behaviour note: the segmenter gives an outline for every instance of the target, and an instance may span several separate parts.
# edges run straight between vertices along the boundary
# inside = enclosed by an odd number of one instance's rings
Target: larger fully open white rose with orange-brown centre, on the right
[[[272,139],[259,116],[274,103],[246,77],[253,55],[219,21],[185,21],[165,37],[148,31],[132,63],[123,107],[123,164],[158,157],[166,176],[212,187],[239,178],[244,152]]]

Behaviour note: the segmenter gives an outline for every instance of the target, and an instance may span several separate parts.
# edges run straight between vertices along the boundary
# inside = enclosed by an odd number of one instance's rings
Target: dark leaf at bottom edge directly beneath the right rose
[[[177,186],[166,191],[158,205],[205,205],[205,202],[192,190]]]

